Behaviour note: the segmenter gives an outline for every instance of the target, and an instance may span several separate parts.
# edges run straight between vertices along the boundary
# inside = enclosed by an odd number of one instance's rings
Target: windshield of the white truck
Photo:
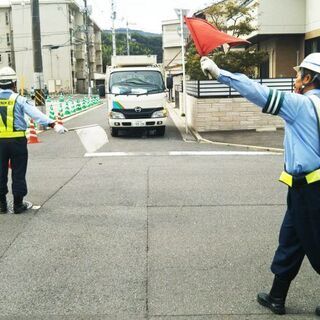
[[[154,94],[164,91],[159,71],[116,71],[110,76],[110,92],[114,94]]]

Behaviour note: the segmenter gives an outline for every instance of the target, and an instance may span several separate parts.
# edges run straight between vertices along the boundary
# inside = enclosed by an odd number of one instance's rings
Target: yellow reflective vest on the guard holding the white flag
[[[0,139],[20,138],[26,135],[25,131],[15,130],[13,126],[17,97],[18,95],[13,93],[9,99],[0,99]]]

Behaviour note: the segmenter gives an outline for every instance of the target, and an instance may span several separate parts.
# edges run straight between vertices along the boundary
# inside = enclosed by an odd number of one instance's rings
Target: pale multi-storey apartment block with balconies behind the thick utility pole
[[[50,92],[84,93],[89,67],[93,80],[102,74],[101,30],[89,20],[89,59],[84,17],[74,0],[40,0],[40,28],[44,82]],[[19,86],[33,86],[30,1],[8,0],[0,5],[0,67],[10,65]]]

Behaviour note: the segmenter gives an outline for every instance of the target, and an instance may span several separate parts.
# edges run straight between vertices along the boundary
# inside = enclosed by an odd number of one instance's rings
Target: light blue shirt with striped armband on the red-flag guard
[[[320,168],[319,125],[309,95],[320,97],[320,89],[306,94],[270,89],[243,74],[221,70],[217,79],[262,108],[285,121],[284,161],[286,171],[296,175]]]

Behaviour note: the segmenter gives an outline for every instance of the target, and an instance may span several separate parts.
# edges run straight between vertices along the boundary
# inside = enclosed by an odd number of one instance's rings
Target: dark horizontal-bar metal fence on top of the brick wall
[[[254,79],[272,89],[293,92],[294,78]],[[182,91],[182,86],[179,87]],[[216,80],[187,81],[187,94],[196,98],[230,98],[241,95],[231,87]]]

